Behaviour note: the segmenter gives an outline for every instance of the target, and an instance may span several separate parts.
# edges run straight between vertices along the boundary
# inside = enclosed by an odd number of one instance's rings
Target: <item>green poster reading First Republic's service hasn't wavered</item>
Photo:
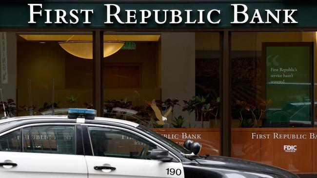
[[[263,43],[266,59],[264,126],[309,126],[312,112],[311,42]]]

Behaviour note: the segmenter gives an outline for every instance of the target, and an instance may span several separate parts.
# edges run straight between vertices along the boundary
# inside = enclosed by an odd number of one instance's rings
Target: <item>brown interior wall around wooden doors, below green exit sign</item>
[[[158,42],[136,42],[136,50],[119,50],[111,56],[104,58],[105,64],[129,64],[141,65],[141,85],[134,89],[107,89],[105,88],[105,100],[117,100],[128,98],[134,106],[145,105],[145,101],[160,99],[158,87]]]

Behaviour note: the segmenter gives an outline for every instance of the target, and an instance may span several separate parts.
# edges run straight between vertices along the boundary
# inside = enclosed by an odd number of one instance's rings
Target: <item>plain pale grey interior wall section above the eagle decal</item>
[[[181,111],[183,100],[195,95],[195,33],[161,34],[161,76],[162,100],[178,97],[180,108],[176,106],[174,116],[185,116]],[[188,122],[186,119],[184,125]]]

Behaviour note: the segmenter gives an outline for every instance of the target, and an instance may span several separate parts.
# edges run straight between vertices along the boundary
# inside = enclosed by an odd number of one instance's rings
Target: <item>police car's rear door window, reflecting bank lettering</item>
[[[76,154],[75,126],[33,126],[23,129],[23,152]]]

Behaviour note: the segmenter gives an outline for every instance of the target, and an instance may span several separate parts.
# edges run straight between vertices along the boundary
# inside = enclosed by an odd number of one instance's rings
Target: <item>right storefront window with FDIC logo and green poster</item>
[[[234,32],[231,44],[231,155],[316,172],[316,32]]]

